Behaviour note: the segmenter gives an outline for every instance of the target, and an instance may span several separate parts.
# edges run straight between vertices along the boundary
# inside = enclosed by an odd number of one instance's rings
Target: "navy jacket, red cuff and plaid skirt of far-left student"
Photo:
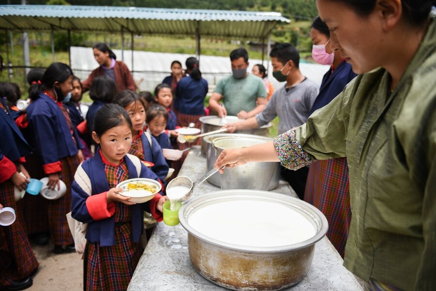
[[[0,203],[16,211],[16,221],[10,226],[0,227],[0,289],[8,288],[13,282],[31,275],[38,268],[25,231],[23,212],[15,201],[14,184],[10,180],[17,171],[14,162],[24,162],[23,157],[31,153],[20,130],[3,100],[0,108]]]

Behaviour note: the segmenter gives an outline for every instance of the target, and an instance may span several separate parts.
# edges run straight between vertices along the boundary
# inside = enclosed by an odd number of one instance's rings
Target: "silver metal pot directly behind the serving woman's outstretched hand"
[[[216,157],[227,148],[241,148],[265,143],[265,140],[251,138],[219,138],[212,142]],[[213,164],[212,164],[213,166]],[[279,186],[279,162],[249,162],[218,175],[220,187],[226,189],[272,190]]]

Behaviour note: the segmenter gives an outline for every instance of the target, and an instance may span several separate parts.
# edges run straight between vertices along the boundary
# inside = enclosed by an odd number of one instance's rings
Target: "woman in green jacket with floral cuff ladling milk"
[[[317,0],[358,73],[305,124],[223,151],[216,168],[346,157],[352,220],[344,265],[367,290],[436,290],[436,21],[433,0]],[[338,13],[340,11],[341,13]]]

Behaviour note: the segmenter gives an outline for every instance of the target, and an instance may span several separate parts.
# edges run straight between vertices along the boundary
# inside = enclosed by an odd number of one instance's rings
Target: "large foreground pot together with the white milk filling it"
[[[189,257],[206,279],[238,291],[281,290],[309,272],[327,219],[284,194],[223,190],[179,210]]]

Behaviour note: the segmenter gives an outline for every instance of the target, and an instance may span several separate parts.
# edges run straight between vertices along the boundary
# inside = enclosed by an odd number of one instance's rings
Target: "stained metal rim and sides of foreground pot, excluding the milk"
[[[304,242],[278,247],[249,247],[212,239],[189,225],[189,216],[214,203],[242,199],[284,204],[302,214],[315,228]],[[225,215],[226,210],[222,210]],[[179,210],[181,225],[188,232],[189,257],[206,279],[232,290],[280,290],[295,285],[310,269],[315,242],[327,232],[327,219],[310,204],[284,194],[253,190],[225,190],[203,195]]]

